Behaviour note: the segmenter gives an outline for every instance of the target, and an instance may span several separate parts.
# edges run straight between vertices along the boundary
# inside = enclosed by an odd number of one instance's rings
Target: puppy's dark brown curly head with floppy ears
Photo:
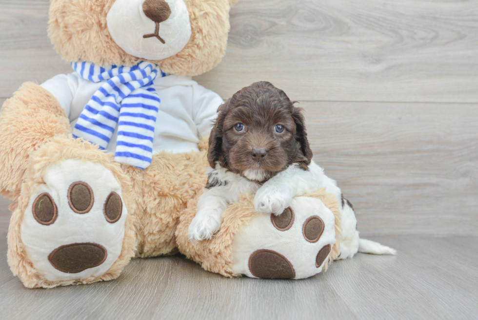
[[[215,168],[264,182],[292,163],[302,169],[312,159],[302,110],[268,82],[238,91],[219,107],[209,139],[208,160]]]

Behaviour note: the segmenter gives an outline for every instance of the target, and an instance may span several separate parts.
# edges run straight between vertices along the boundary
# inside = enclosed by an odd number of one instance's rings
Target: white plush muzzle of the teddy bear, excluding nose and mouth
[[[162,60],[181,51],[191,38],[191,22],[183,0],[165,0],[171,15],[159,23],[159,36],[144,39],[155,32],[156,24],[143,12],[145,0],[116,0],[106,17],[113,40],[126,53],[147,60]]]

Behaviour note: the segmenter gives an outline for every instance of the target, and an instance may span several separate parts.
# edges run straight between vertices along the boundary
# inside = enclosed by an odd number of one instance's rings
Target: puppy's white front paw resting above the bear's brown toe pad
[[[254,208],[259,213],[274,213],[279,215],[290,206],[292,196],[286,189],[277,187],[262,187],[254,197]]]

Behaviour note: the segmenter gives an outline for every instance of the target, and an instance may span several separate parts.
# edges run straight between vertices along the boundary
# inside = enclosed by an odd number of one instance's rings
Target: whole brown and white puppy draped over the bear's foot
[[[239,195],[256,192],[259,213],[279,215],[292,198],[319,188],[336,196],[342,215],[340,258],[359,250],[359,232],[352,204],[336,181],[312,161],[302,109],[284,91],[258,82],[238,91],[219,107],[209,138],[208,184],[191,222],[191,240],[211,239],[219,230],[222,213]],[[393,249],[361,240],[364,252],[394,254]]]

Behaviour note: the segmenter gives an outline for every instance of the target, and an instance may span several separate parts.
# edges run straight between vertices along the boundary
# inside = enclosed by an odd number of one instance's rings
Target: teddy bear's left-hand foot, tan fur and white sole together
[[[8,232],[8,263],[26,287],[110,280],[134,256],[130,179],[113,155],[55,137],[29,159]]]

